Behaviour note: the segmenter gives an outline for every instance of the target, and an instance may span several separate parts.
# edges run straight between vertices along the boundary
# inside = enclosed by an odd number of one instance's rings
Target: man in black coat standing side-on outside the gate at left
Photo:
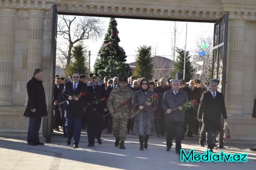
[[[43,116],[47,116],[46,95],[42,83],[43,71],[35,69],[34,76],[27,83],[27,108],[24,116],[29,117],[27,144],[44,145],[39,141],[39,129]]]

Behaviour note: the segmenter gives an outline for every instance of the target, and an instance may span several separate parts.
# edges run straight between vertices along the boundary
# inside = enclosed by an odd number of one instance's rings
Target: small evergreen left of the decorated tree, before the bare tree
[[[82,44],[76,45],[72,49],[73,60],[71,65],[67,66],[66,74],[72,75],[73,72],[77,71],[80,74],[88,74],[88,62],[86,59],[86,48]]]

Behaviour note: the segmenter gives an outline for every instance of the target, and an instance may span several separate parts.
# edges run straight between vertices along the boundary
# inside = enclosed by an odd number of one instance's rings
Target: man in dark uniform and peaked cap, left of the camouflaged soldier
[[[94,146],[94,137],[97,138],[98,144],[102,144],[101,133],[104,127],[104,112],[107,112],[106,101],[102,99],[108,99],[104,84],[98,82],[97,74],[90,74],[90,82],[88,87],[88,107],[86,107],[86,125],[88,134],[88,147]],[[101,100],[101,101],[99,101]],[[99,101],[96,104],[96,101]]]

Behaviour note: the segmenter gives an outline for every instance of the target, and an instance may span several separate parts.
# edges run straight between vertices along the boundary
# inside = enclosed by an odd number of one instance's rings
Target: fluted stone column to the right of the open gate
[[[229,114],[242,114],[242,73],[245,20],[230,19],[230,77],[227,109]]]

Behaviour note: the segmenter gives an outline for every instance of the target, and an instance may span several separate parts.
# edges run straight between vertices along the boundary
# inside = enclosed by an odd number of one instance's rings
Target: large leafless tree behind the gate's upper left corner
[[[98,37],[102,36],[103,31],[100,18],[59,15],[57,25],[57,65],[65,70],[65,67],[72,60],[73,46],[83,40],[97,40]]]

